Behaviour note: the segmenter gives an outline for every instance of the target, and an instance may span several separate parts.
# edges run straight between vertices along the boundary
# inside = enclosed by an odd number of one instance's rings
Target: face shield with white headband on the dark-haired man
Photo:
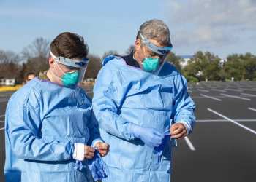
[[[77,82],[83,82],[84,75],[86,74],[86,68],[89,63],[89,59],[85,58],[83,60],[74,60],[64,57],[56,57],[53,55],[53,52],[50,51],[50,56],[54,58],[56,63],[61,63],[62,65],[66,66],[70,70],[78,71],[78,80]],[[70,74],[69,72],[64,74]]]

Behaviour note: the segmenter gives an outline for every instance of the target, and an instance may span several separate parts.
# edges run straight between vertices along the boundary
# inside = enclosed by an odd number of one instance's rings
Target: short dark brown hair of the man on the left
[[[82,36],[77,33],[64,32],[50,43],[50,51],[55,56],[83,59],[88,55],[89,47]]]

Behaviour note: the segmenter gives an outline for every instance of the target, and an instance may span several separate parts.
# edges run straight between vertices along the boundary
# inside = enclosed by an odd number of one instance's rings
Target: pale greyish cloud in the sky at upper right
[[[249,39],[256,28],[256,0],[171,0],[165,14],[178,46],[216,47]]]

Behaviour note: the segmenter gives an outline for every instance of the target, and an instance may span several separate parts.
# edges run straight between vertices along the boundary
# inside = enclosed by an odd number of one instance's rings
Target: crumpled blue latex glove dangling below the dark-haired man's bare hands
[[[91,175],[94,178],[94,181],[108,177],[108,167],[100,157],[99,151],[95,150],[94,158],[87,160],[87,164],[91,170]]]

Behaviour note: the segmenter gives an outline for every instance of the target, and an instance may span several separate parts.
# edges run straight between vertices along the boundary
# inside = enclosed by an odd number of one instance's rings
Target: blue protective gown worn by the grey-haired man
[[[130,123],[164,133],[173,122],[186,122],[189,132],[195,123],[195,103],[187,93],[184,76],[170,63],[158,75],[127,66],[122,58],[108,57],[94,86],[93,108],[102,138],[110,153],[102,158],[110,174],[103,181],[169,182],[172,141],[162,157],[134,138]]]

